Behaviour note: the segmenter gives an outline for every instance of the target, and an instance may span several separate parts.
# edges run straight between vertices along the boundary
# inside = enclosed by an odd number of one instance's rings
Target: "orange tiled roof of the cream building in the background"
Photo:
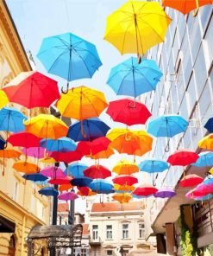
[[[143,209],[144,205],[142,202],[104,202],[104,203],[93,203],[91,212],[118,212],[118,211],[139,211]]]

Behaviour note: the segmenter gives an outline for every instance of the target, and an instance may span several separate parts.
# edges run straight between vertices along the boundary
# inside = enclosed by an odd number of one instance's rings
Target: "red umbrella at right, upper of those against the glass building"
[[[191,150],[177,150],[170,157],[168,157],[167,162],[172,165],[185,166],[191,163],[195,163],[199,156],[197,153]]]

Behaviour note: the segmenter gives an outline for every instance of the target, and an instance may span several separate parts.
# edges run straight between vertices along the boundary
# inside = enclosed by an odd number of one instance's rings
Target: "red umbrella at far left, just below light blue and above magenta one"
[[[8,138],[8,142],[13,146],[25,148],[39,147],[40,141],[41,138],[38,138],[34,134],[26,131],[14,133]]]

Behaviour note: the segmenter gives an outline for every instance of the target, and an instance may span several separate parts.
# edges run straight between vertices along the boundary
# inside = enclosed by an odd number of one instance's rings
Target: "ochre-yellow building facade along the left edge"
[[[6,3],[0,1],[0,88],[23,71],[30,71],[28,57],[22,47]],[[19,106],[22,112],[27,112]],[[36,109],[36,112],[46,110]],[[5,138],[2,131],[0,135]],[[27,255],[27,236],[34,225],[48,225],[50,202],[12,169],[14,160],[0,159],[0,255]],[[3,168],[5,174],[3,176]]]

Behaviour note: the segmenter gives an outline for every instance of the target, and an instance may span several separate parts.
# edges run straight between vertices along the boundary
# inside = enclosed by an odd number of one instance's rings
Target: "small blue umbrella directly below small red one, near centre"
[[[113,185],[103,179],[93,180],[88,187],[91,188],[92,191],[97,192],[98,194],[110,194],[114,192]]]

